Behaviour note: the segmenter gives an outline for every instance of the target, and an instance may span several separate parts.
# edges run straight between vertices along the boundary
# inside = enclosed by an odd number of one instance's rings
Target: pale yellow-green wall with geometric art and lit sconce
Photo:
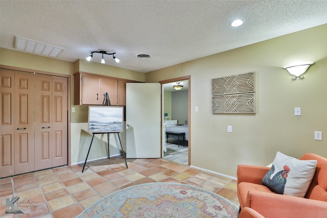
[[[264,166],[277,151],[327,157],[326,38],[323,25],[148,72],[146,82],[191,76],[191,165],[236,176],[238,164]],[[314,62],[302,80],[292,80],[282,68],[296,61]],[[250,71],[255,115],[212,114],[211,79]],[[295,107],[301,116],[294,116]],[[323,132],[322,141],[314,140],[314,131]]]

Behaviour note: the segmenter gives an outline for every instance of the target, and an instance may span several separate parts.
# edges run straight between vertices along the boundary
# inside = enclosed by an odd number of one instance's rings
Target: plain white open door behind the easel
[[[160,158],[160,83],[126,83],[126,157]]]

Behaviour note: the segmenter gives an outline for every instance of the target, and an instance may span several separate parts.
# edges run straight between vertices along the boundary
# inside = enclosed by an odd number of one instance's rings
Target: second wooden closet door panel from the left
[[[34,75],[15,71],[15,174],[34,171]]]

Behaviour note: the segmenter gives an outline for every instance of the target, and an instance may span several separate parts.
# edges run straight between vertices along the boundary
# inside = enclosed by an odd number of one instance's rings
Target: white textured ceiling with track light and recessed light
[[[327,23],[327,1],[0,1],[0,45],[14,36],[65,50],[75,62],[116,52],[106,64],[149,72]],[[234,19],[241,27],[231,27]],[[137,58],[148,54],[150,58]],[[95,54],[92,61],[100,62]]]

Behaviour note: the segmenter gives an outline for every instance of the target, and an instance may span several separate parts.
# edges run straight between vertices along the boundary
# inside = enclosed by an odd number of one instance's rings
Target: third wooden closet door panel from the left
[[[52,77],[35,76],[35,170],[52,167]]]

